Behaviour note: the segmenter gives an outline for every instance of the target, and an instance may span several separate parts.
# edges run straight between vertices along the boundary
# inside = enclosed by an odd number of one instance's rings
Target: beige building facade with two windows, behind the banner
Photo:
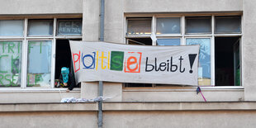
[[[103,82],[103,127],[256,126],[254,0],[0,3],[0,127],[98,126],[98,102],[59,103],[99,92],[98,83],[55,88],[60,68],[72,67],[69,40],[201,45],[206,102],[192,86]]]

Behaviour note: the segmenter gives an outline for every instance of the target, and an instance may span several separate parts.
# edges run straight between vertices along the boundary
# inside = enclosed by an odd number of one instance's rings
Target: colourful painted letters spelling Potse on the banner
[[[100,53],[100,55],[99,55]],[[74,72],[81,69],[95,69],[97,70],[100,63],[101,69],[110,69],[115,71],[123,71],[125,73],[140,73],[141,52],[92,52],[92,54],[81,55],[81,51],[73,53],[73,67]],[[126,55],[126,59],[125,59]],[[107,62],[107,63],[106,63]],[[81,64],[82,63],[82,64]]]

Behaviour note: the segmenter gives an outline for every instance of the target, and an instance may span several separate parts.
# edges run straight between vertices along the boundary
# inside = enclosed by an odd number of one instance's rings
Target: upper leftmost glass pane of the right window
[[[151,19],[128,20],[128,35],[151,35]]]

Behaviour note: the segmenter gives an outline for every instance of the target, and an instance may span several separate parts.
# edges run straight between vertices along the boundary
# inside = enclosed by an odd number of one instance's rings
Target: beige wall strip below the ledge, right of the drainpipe
[[[107,111],[104,127],[254,128],[256,111]]]

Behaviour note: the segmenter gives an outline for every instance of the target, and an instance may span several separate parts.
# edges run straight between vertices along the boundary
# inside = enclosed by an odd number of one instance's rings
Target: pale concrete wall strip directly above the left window
[[[82,13],[83,0],[2,0],[0,15]]]

